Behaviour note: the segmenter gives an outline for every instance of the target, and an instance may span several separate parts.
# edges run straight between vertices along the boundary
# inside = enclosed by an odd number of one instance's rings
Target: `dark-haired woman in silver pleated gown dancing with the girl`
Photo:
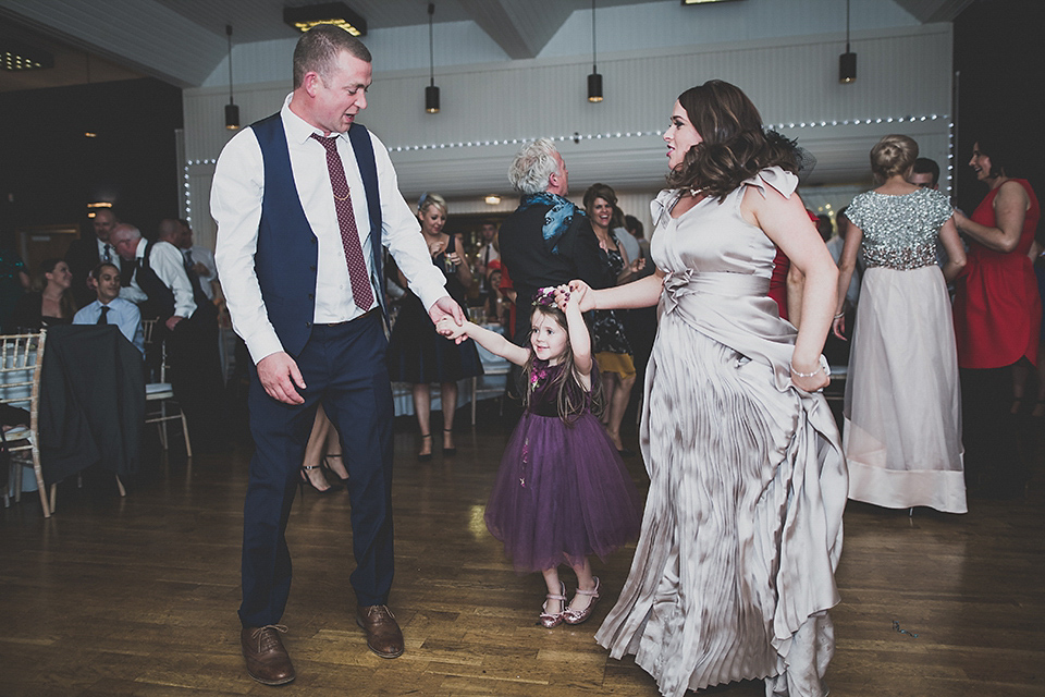
[[[847,476],[820,352],[837,269],[795,194],[794,144],[738,88],[684,93],[653,203],[656,273],[583,308],[660,302],[640,444],[650,493],[631,572],[595,635],[661,693],[764,678],[825,695]],[[776,246],[806,274],[801,331],[766,296]]]

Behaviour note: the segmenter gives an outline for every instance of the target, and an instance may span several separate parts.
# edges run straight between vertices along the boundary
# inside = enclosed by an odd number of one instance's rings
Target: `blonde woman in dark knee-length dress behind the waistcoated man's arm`
[[[443,232],[446,201],[439,194],[425,194],[418,203],[421,236],[434,264],[446,277],[446,292],[466,307],[465,294],[471,285],[471,269],[465,258],[460,235]],[[401,274],[402,276],[402,274]],[[406,279],[399,279],[406,288]],[[453,455],[454,411],[457,408],[457,380],[482,375],[479,352],[470,339],[458,344],[435,331],[420,298],[407,292],[403,298],[392,343],[389,346],[389,374],[393,381],[414,384],[414,413],[421,429],[417,458],[432,458],[431,383],[440,384],[443,407],[443,454]]]

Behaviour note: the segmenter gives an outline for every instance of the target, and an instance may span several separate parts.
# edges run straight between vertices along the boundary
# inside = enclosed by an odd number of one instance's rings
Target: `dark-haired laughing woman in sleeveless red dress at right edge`
[[[955,295],[967,482],[981,493],[1020,496],[1025,470],[1007,435],[1012,402],[1012,366],[1037,363],[1042,303],[1028,250],[1041,217],[1026,180],[1006,173],[1009,164],[993,140],[973,146],[969,166],[989,187],[971,217],[955,211],[969,242],[968,266]]]

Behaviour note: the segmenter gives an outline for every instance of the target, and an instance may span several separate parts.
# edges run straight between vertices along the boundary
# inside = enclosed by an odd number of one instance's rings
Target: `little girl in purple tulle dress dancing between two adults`
[[[555,304],[555,291],[560,304]],[[526,412],[512,435],[487,504],[487,527],[504,542],[520,572],[540,571],[548,600],[540,623],[580,624],[599,600],[599,578],[588,557],[605,557],[638,535],[639,496],[617,449],[592,415],[592,384],[599,384],[591,338],[568,289],[541,289],[530,319],[530,347],[501,334],[452,319],[440,333],[467,335],[522,366]],[[566,606],[558,565],[577,574],[577,594]]]

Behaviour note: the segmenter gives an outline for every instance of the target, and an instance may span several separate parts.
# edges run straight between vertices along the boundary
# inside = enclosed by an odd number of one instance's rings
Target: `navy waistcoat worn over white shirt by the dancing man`
[[[296,356],[312,332],[316,314],[316,266],[319,243],[308,224],[294,183],[286,132],[279,113],[250,125],[265,162],[265,193],[258,224],[255,272],[269,321],[283,344]],[[367,209],[370,213],[370,285],[381,311],[388,316],[381,270],[381,198],[378,193],[378,166],[373,143],[361,124],[348,130],[359,173],[362,175]],[[331,194],[333,195],[333,194]]]

